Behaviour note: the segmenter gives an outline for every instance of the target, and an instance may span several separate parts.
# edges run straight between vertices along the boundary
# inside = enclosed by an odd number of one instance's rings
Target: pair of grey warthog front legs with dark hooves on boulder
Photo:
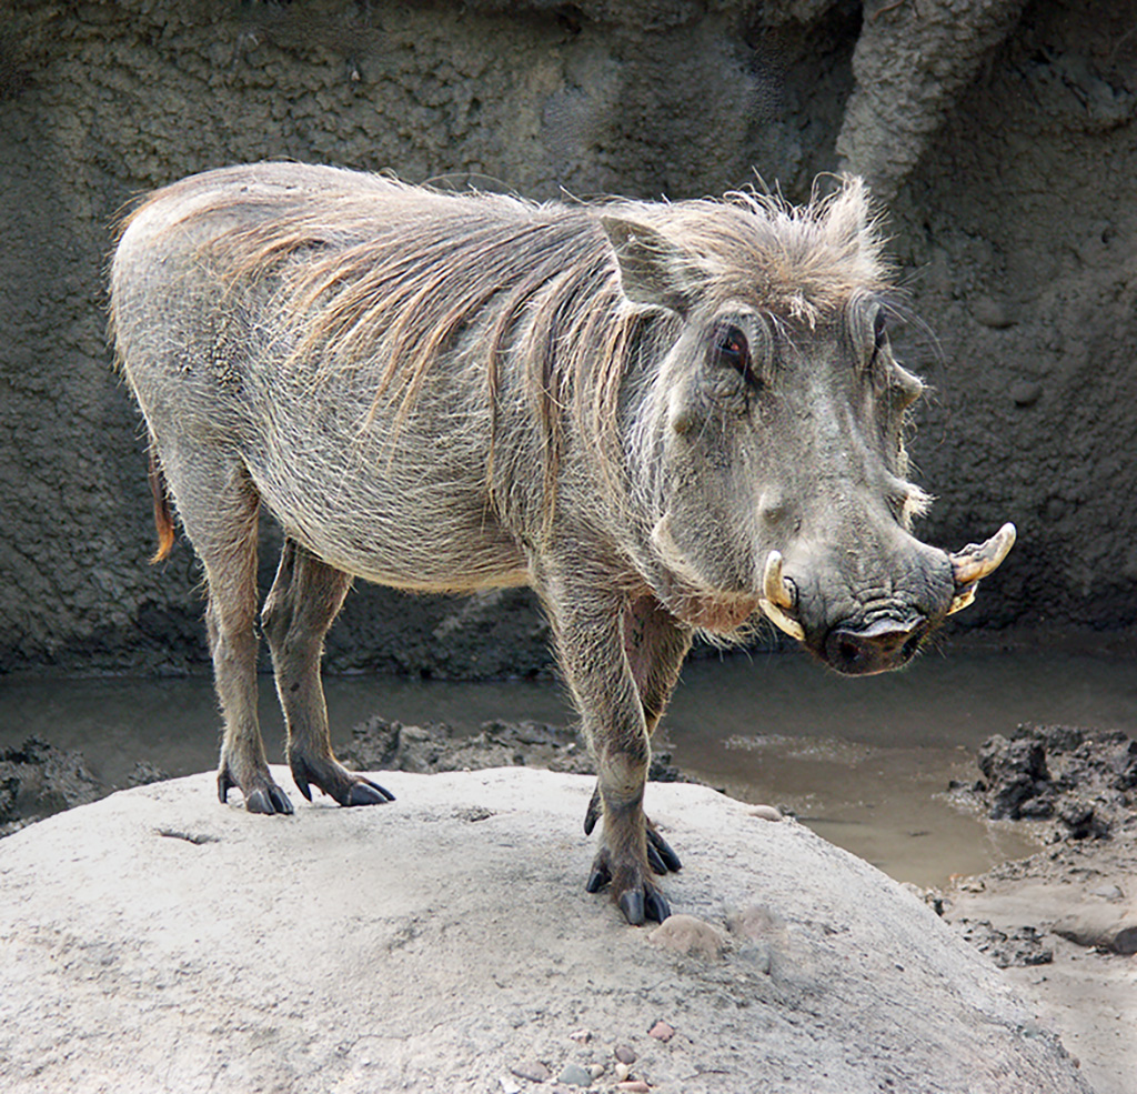
[[[630,923],[662,922],[671,909],[653,873],[678,870],[680,863],[644,814],[648,738],[690,632],[650,598],[629,603],[566,588],[561,597],[549,596],[549,608],[562,668],[597,762],[586,830],[598,819],[603,826],[588,892],[611,886]]]

